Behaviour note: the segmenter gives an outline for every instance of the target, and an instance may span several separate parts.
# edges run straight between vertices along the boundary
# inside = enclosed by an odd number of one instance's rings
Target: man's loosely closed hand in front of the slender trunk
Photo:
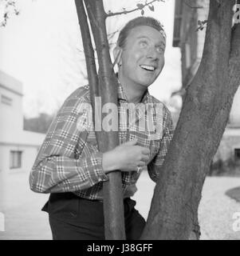
[[[103,169],[105,173],[112,170],[137,171],[138,167],[146,166],[150,150],[136,145],[137,140],[126,142],[103,155]]]

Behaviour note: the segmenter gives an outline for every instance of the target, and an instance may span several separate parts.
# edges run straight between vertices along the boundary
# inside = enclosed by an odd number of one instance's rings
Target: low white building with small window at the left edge
[[[22,83],[0,70],[0,197],[8,174],[30,171],[45,138],[23,130],[22,96]]]

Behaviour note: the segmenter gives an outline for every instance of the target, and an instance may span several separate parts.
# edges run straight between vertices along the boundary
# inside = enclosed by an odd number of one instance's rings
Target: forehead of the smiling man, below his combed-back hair
[[[138,38],[149,38],[154,42],[165,42],[163,35],[151,26],[136,26],[128,33],[128,41],[135,41]]]

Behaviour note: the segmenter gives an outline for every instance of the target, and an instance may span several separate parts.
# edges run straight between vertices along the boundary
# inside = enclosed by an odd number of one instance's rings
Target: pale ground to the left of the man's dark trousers
[[[51,239],[48,214],[41,211],[49,195],[33,193],[27,173],[9,174],[6,184],[6,231],[0,232],[0,239]]]

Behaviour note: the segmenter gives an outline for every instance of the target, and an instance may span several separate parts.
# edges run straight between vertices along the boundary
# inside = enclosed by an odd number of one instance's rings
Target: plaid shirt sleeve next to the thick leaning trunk
[[[160,174],[160,168],[163,165],[168,147],[174,133],[174,126],[171,118],[171,112],[166,106],[163,106],[163,138],[160,140],[159,151],[155,158],[148,164],[148,174],[152,181],[157,182]]]

